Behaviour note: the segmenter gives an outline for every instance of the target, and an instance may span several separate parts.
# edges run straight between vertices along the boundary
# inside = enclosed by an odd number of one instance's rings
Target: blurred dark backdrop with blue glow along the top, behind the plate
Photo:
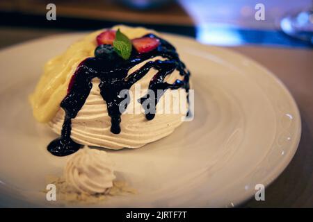
[[[45,17],[48,3],[56,5],[56,21]],[[255,19],[257,3],[264,5],[264,20]],[[312,0],[1,0],[0,25],[5,33],[26,28],[23,39],[45,35],[46,29],[49,35],[123,23],[207,44],[312,47],[312,6]],[[14,33],[2,36],[1,46],[20,40]]]

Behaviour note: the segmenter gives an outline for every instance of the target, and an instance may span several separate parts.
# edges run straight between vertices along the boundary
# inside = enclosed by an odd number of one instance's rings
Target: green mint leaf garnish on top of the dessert
[[[115,40],[113,41],[114,51],[123,59],[128,60],[131,55],[131,47],[131,40],[129,40],[129,38],[120,31],[120,28],[118,28]]]

